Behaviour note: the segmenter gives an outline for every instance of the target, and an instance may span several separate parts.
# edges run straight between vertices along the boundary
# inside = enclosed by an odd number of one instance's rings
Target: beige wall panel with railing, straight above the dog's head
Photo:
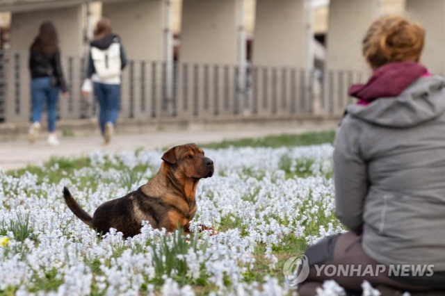
[[[183,1],[179,115],[240,112],[245,77],[240,75],[245,68],[244,1]]]

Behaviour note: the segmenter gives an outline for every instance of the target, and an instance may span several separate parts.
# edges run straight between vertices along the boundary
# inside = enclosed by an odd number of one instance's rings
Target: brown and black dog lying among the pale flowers
[[[113,227],[125,238],[135,236],[140,233],[143,220],[153,228],[167,231],[175,231],[179,225],[188,233],[196,212],[197,183],[213,175],[213,161],[195,144],[172,147],[163,154],[162,160],[153,179],[124,197],[100,205],[92,217],[66,187],[63,188],[65,202],[74,215],[99,233]]]

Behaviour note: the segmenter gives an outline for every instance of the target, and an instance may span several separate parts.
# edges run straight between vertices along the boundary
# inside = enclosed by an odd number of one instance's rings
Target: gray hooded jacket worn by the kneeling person
[[[350,105],[334,149],[336,213],[384,264],[445,270],[445,88],[421,77],[394,98]]]

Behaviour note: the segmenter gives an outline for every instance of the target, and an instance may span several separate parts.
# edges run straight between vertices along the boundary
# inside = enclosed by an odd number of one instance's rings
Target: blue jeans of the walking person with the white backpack
[[[105,134],[105,124],[118,120],[120,108],[120,84],[94,83],[94,90],[99,101],[99,126]]]

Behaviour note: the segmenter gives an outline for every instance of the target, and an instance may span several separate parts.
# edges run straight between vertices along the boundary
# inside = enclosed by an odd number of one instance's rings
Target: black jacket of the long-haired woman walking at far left
[[[53,75],[56,79],[56,86],[59,86],[63,92],[68,90],[63,78],[60,51],[56,51],[54,56],[43,56],[31,51],[29,54],[29,69],[31,71],[31,79]]]

